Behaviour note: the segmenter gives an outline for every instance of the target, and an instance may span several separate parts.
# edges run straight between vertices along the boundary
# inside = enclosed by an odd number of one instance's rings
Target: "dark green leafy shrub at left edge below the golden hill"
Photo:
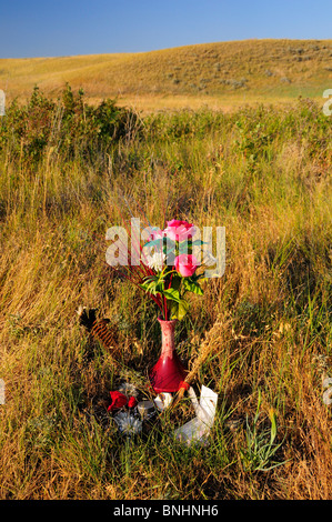
[[[0,150],[12,159],[38,163],[47,148],[64,160],[78,159],[93,163],[100,153],[108,153],[114,143],[140,132],[138,116],[119,108],[114,100],[98,107],[88,104],[83,91],[73,93],[70,86],[53,102],[34,88],[29,102],[17,101],[0,121]]]

